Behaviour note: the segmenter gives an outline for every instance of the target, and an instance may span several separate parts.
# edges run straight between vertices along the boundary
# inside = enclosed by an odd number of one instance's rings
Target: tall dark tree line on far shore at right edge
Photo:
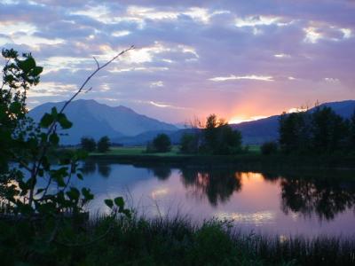
[[[329,106],[316,106],[307,112],[282,113],[279,123],[283,153],[355,151],[355,111],[350,119],[344,119]]]

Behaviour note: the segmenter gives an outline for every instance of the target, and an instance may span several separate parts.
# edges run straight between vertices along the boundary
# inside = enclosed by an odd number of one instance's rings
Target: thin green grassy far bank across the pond
[[[119,147],[107,153],[91,153],[95,160],[111,160],[131,164],[161,163],[170,165],[230,165],[241,168],[355,168],[355,156],[329,155],[285,155],[281,153],[263,155],[257,146],[248,153],[236,155],[182,154],[174,147],[170,153],[145,153],[144,147]]]

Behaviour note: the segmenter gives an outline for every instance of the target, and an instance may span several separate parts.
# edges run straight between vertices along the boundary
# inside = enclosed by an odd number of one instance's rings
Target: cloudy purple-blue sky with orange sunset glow
[[[0,47],[44,67],[30,108],[66,100],[93,57],[103,64],[130,45],[79,98],[170,122],[355,98],[352,0],[0,0]]]

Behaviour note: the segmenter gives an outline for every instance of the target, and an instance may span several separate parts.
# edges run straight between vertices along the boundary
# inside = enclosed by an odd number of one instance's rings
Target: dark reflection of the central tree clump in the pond
[[[185,188],[193,189],[193,196],[203,199],[217,207],[230,199],[233,192],[241,190],[241,176],[230,169],[198,170],[181,168],[181,181]]]

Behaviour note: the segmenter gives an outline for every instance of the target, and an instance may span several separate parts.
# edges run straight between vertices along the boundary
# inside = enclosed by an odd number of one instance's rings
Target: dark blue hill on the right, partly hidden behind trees
[[[335,113],[350,118],[355,110],[355,100],[325,103],[320,106],[329,106]],[[314,108],[308,112],[313,112]],[[245,144],[262,144],[265,141],[277,140],[279,137],[280,115],[273,115],[268,118],[233,124],[233,129],[241,130],[243,142]]]

